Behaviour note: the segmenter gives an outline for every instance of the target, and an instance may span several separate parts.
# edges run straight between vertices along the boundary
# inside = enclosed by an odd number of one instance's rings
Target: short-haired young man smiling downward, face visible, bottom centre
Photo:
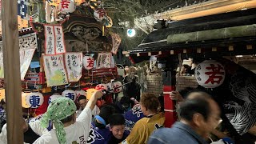
[[[130,134],[128,130],[125,130],[126,121],[122,114],[112,114],[109,122],[111,131],[109,144],[118,144]]]

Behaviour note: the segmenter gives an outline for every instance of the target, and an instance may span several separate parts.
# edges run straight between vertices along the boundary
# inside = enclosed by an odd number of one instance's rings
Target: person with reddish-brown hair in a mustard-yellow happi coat
[[[164,114],[159,112],[160,102],[154,94],[142,94],[140,105],[145,118],[135,123],[130,135],[122,143],[146,143],[150,134],[165,122]]]

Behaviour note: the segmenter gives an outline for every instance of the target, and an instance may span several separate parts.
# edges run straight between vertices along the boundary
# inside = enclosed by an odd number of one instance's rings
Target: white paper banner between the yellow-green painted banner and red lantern
[[[78,82],[82,77],[82,52],[66,53],[65,66],[69,82]]]

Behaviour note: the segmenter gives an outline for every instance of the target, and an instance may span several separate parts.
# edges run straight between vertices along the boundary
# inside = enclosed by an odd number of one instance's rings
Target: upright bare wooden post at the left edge
[[[6,86],[8,143],[22,144],[22,87],[18,45],[17,1],[2,0],[2,44]]]

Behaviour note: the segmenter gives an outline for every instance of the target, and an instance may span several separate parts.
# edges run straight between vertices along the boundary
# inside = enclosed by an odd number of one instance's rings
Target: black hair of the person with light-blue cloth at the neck
[[[116,111],[117,110],[114,108],[114,106],[105,105],[102,106],[101,111],[98,115],[105,120],[106,124],[109,124],[108,119],[112,114],[116,113]]]

